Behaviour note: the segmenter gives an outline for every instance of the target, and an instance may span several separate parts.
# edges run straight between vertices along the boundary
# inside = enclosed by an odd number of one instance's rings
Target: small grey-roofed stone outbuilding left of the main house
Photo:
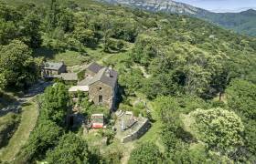
[[[61,73],[66,73],[67,67],[63,62],[45,62],[41,67],[42,77],[56,77]]]

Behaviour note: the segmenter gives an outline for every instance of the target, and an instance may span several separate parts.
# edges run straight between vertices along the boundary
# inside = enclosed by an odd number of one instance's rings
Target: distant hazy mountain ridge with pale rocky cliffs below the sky
[[[192,15],[240,34],[256,36],[256,11],[240,13],[213,13],[205,9],[172,0],[98,0],[113,5],[126,5],[152,12]]]

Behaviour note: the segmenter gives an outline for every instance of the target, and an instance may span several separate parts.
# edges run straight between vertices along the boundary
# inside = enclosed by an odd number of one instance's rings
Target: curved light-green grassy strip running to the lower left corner
[[[11,161],[15,158],[16,153],[25,145],[30,132],[36,125],[38,110],[35,102],[24,104],[22,108],[20,125],[15,134],[10,138],[8,145],[0,149],[0,159]]]

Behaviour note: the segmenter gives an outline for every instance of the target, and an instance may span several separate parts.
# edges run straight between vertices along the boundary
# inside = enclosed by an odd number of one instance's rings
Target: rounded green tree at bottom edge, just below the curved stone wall
[[[163,161],[162,154],[154,143],[146,142],[133,149],[129,164],[159,163]]]

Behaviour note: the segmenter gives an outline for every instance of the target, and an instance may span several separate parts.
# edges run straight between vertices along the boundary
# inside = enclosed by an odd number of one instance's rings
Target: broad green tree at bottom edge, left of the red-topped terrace
[[[92,160],[87,142],[71,132],[63,135],[59,140],[59,145],[47,153],[49,164],[91,163]]]

